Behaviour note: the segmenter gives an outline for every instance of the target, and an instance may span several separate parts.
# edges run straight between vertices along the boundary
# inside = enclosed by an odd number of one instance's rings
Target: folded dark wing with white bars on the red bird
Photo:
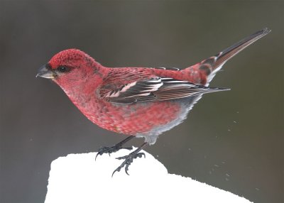
[[[153,77],[143,79],[129,84],[124,84],[119,88],[106,89],[99,92],[102,99],[121,104],[131,104],[135,102],[166,101],[196,96],[209,92],[229,90],[217,87],[204,87],[173,78]]]

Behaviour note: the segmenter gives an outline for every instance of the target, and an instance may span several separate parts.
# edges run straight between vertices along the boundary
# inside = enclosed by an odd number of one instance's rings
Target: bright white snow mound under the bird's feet
[[[45,203],[58,202],[249,202],[231,192],[220,190],[190,177],[169,174],[153,155],[137,158],[129,167],[112,172],[123,160],[116,157],[129,150],[109,155],[70,154],[51,163]]]

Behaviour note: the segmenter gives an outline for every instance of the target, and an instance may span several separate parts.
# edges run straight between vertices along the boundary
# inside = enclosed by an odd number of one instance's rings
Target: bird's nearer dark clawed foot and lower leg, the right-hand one
[[[137,148],[136,150],[131,152],[129,155],[125,155],[125,156],[121,156],[121,157],[117,158],[119,160],[124,159],[124,162],[121,163],[121,165],[118,168],[116,168],[116,170],[114,170],[114,172],[116,172],[116,171],[119,172],[121,170],[121,168],[124,168],[124,166],[125,166],[125,172],[126,172],[127,175],[129,175],[129,173],[127,171],[129,170],[129,165],[131,165],[131,163],[133,162],[133,159],[141,158],[142,155],[145,158],[145,153],[139,153],[139,151],[142,150],[142,148],[146,145],[148,145],[148,143],[145,142],[145,143],[143,143],[143,145],[141,145],[139,148]],[[112,173],[111,177],[114,175],[114,172]]]

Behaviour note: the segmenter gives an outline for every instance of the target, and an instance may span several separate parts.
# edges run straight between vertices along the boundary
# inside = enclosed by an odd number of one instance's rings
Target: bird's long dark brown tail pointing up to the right
[[[198,65],[199,69],[203,70],[207,75],[207,85],[213,79],[216,73],[222,68],[226,61],[270,32],[271,30],[264,28],[263,30],[253,33],[249,37],[240,40],[238,43],[231,45],[229,48],[222,50],[222,52],[218,53],[217,55],[209,57],[206,60],[202,60],[202,62],[200,62]]]

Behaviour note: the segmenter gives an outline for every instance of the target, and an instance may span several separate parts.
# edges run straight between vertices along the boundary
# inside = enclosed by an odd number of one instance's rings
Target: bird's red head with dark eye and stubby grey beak
[[[53,79],[64,87],[78,86],[102,68],[92,57],[77,49],[62,50],[40,67],[36,77]]]

